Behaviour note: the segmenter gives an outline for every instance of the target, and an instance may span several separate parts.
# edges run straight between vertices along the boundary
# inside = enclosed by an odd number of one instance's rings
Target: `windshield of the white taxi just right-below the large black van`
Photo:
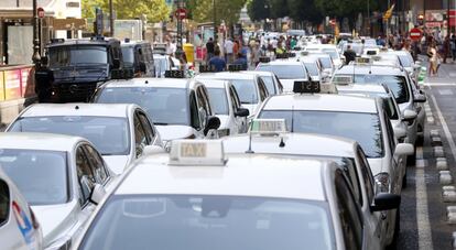
[[[97,104],[135,104],[155,124],[189,124],[185,88],[119,87],[105,88],[95,97]]]

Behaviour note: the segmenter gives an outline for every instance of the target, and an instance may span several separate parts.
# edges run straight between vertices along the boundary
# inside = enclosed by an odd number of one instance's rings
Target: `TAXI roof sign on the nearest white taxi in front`
[[[171,142],[170,165],[225,165],[221,140],[174,140]]]

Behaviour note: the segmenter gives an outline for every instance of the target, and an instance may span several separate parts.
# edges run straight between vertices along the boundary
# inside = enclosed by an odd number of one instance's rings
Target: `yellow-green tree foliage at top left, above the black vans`
[[[95,8],[100,7],[105,13],[109,12],[107,0],[83,0],[83,18],[94,18]],[[170,8],[164,0],[112,0],[117,19],[137,19],[146,15],[149,22],[167,20]]]

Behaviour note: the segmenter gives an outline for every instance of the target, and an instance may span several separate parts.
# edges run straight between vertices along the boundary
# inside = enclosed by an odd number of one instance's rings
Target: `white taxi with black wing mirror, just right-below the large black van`
[[[110,80],[95,93],[95,104],[137,104],[153,119],[163,141],[205,138],[220,123],[206,87],[186,78]]]

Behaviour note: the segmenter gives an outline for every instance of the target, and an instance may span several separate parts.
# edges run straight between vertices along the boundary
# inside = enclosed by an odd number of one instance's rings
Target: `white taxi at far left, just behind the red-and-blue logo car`
[[[29,202],[42,226],[44,248],[69,249],[78,229],[95,209],[95,203],[99,202],[94,197],[109,187],[113,173],[94,145],[78,137],[2,133],[0,149],[0,165]],[[33,219],[28,207],[20,206],[17,209],[22,209],[22,214],[14,216],[24,219],[21,226],[24,228],[20,229],[26,233],[24,237],[31,237]]]

